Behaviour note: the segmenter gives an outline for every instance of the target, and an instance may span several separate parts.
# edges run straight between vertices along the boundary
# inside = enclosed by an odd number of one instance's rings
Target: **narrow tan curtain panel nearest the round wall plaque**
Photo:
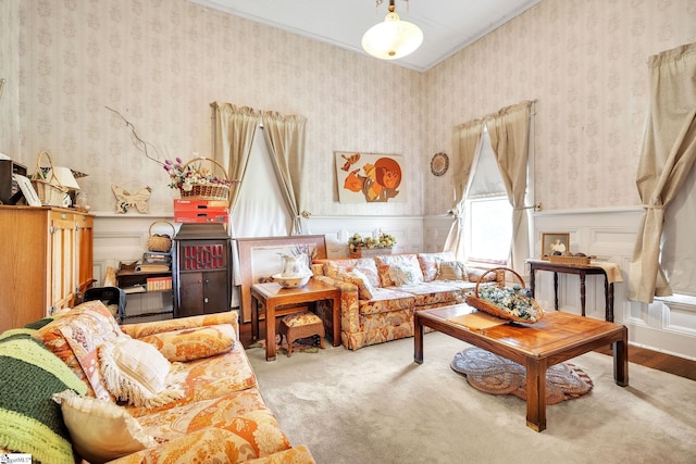
[[[445,240],[444,251],[451,251],[458,260],[464,256],[464,202],[467,188],[471,181],[471,166],[481,149],[483,120],[473,120],[455,127],[452,139],[455,145],[455,221]]]

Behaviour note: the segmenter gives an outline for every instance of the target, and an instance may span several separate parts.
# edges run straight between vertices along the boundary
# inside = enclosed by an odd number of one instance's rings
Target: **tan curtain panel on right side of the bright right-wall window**
[[[524,101],[485,117],[490,145],[512,205],[510,267],[521,275],[524,275],[524,261],[530,258],[530,213],[524,199],[530,156],[531,108],[532,102]]]

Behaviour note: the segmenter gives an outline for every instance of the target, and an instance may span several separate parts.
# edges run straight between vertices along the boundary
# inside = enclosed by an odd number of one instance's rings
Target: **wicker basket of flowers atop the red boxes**
[[[210,158],[195,156],[184,163],[181,158],[166,160],[164,171],[170,175],[170,187],[178,189],[189,200],[226,200],[233,184],[222,164]]]

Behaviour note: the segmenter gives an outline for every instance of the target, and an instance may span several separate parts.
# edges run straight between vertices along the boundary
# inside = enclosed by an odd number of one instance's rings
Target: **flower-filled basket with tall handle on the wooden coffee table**
[[[488,273],[499,271],[510,272],[520,284],[511,288],[481,286]],[[508,267],[495,267],[483,273],[476,281],[474,294],[467,297],[465,301],[467,304],[480,311],[519,323],[534,324],[544,317],[544,309],[535,299],[526,294],[522,276]]]

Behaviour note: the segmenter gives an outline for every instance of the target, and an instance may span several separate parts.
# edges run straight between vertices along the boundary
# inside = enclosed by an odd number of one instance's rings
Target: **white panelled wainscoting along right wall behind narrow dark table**
[[[540,256],[542,233],[569,233],[571,251],[606,256],[621,267],[623,283],[614,284],[614,322],[629,327],[630,342],[696,360],[694,299],[656,300],[649,305],[627,299],[629,264],[642,214],[639,208],[536,212],[533,258]],[[426,251],[444,246],[451,222],[447,216],[424,218]],[[524,277],[529,284],[529,275]],[[552,273],[537,271],[536,298],[545,309],[554,309]],[[585,310],[588,317],[605,317],[604,298],[604,277],[587,276]],[[579,276],[559,274],[558,299],[561,311],[581,313]]]

